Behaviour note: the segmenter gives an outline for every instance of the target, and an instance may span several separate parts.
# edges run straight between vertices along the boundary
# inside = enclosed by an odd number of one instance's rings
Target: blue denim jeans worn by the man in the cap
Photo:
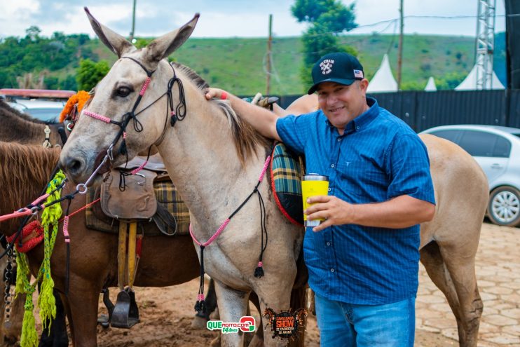
[[[315,294],[320,345],[413,347],[416,298],[385,305],[353,305]]]

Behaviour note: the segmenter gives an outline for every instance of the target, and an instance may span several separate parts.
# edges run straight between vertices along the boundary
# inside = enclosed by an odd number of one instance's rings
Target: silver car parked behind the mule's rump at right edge
[[[495,125],[444,125],[424,130],[471,154],[489,182],[491,222],[520,225],[520,129]]]

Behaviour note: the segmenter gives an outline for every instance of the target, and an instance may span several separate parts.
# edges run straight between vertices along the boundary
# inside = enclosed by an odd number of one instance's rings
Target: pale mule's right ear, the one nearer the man
[[[185,25],[180,27],[173,32],[169,32],[157,39],[151,41],[146,50],[148,51],[148,57],[151,62],[159,62],[163,58],[170,55],[174,50],[182,46],[184,42],[191,36],[195,25],[197,24],[199,14],[196,13],[193,19],[187,22]]]

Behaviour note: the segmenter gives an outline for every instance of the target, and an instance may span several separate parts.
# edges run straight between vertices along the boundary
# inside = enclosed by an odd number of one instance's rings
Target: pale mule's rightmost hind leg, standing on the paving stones
[[[467,250],[467,245],[439,245],[439,248],[458,296],[462,325],[462,329],[460,325],[458,329],[459,345],[476,347],[484,308],[475,275],[477,245],[472,250]]]

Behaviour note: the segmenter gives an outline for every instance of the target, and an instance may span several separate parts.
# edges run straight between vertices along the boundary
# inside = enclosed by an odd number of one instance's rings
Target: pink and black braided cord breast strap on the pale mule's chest
[[[260,226],[261,226],[261,247],[260,247],[260,257],[258,261],[258,266],[254,269],[254,277],[261,278],[264,276],[264,264],[262,263],[262,257],[264,257],[264,251],[267,247],[267,229],[266,229],[266,206],[264,205],[264,199],[261,196],[260,191],[258,190],[258,187],[260,186],[262,180],[264,179],[264,176],[266,175],[266,170],[268,168],[269,162],[271,161],[271,156],[268,156],[266,158],[266,162],[264,163],[264,168],[262,168],[262,172],[259,176],[258,182],[256,183],[256,186],[254,186],[253,191],[245,198],[245,200],[240,204],[240,206],[237,207],[236,210],[229,215],[228,218],[222,222],[222,224],[219,226],[219,229],[215,231],[215,233],[210,237],[209,240],[207,240],[205,243],[200,243],[195,235],[193,234],[193,229],[191,228],[191,223],[189,226],[189,231],[191,238],[193,238],[193,242],[195,242],[200,247],[200,283],[198,285],[198,294],[197,294],[197,301],[195,304],[195,311],[200,313],[201,311],[204,311],[205,308],[205,299],[204,299],[204,249],[205,247],[209,246],[214,240],[216,240],[220,233],[226,229],[226,226],[228,226],[229,222],[231,222],[231,218],[233,218],[242,207],[249,201],[249,199],[254,195],[254,193],[258,194],[259,196],[259,205],[260,205]],[[264,233],[266,233],[266,242],[264,245]]]

